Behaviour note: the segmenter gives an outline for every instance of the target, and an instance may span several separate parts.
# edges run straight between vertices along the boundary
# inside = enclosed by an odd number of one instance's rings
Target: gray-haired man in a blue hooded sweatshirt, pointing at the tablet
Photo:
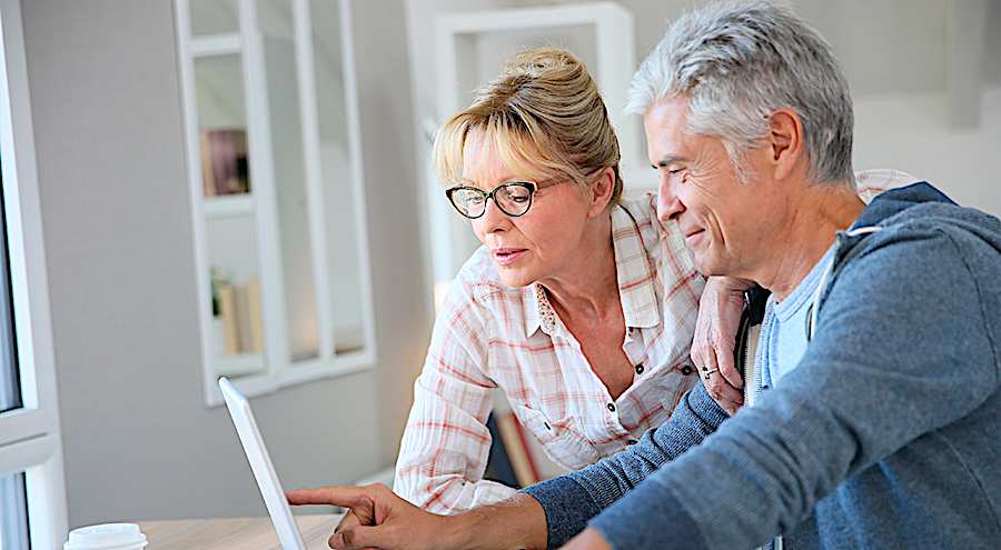
[[[928,183],[866,207],[844,77],[767,2],[676,21],[631,104],[700,271],[772,292],[753,406],[724,423],[698,387],[628,450],[462,516],[289,500],[351,508],[334,548],[997,548],[1001,222]]]

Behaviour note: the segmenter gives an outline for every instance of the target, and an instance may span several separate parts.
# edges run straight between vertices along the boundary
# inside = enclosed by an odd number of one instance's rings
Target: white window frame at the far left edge
[[[22,407],[0,414],[0,474],[24,472],[32,548],[60,548],[66,482],[34,130],[19,0],[0,0],[0,169]]]

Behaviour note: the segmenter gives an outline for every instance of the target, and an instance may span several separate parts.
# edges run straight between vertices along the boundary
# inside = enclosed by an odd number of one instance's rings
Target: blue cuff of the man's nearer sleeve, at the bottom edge
[[[674,492],[653,479],[606,508],[587,527],[601,532],[616,550],[708,548]]]

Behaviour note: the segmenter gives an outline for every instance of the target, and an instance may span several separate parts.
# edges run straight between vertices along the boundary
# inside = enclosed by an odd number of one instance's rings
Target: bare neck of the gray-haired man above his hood
[[[789,223],[774,236],[773,254],[753,279],[782,301],[803,281],[834,242],[865,209],[854,188],[820,183],[797,197]]]

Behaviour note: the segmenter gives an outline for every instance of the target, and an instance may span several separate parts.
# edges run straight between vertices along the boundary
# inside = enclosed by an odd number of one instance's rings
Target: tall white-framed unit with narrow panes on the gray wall
[[[176,0],[204,391],[370,368],[348,0]]]

